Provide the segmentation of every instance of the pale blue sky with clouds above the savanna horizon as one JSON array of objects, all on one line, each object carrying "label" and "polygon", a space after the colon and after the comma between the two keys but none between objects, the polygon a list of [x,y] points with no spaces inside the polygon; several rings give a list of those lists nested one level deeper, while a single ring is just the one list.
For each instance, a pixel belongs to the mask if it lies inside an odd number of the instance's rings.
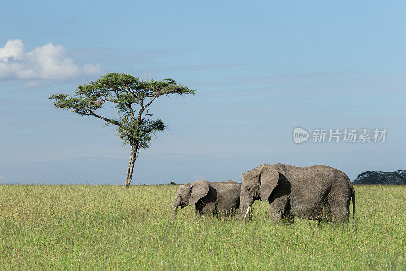
[{"label": "pale blue sky with clouds above the savanna horizon", "polygon": [[[108,72],[173,78],[132,184],[240,180],[261,164],[354,179],[406,169],[406,3],[20,1],[2,4],[0,183],[122,184],[129,147],[47,97]],[[384,143],[295,144],[305,128],[388,130]]]}]

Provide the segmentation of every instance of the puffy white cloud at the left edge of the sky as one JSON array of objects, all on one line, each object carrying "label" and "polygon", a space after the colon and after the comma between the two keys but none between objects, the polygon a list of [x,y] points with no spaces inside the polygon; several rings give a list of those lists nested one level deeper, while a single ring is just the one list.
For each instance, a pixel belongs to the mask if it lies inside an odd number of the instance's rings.
[{"label": "puffy white cloud at the left edge of the sky", "polygon": [[47,43],[25,52],[21,40],[9,40],[0,48],[0,79],[67,79],[99,73],[100,64],[75,65],[62,45]]}]

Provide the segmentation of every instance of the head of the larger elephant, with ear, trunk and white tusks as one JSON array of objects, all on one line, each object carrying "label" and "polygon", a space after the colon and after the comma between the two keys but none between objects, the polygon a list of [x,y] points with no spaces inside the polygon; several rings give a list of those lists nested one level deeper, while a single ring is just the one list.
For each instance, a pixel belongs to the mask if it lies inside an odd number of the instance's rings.
[{"label": "head of the larger elephant, with ear, trunk and white tusks", "polygon": [[244,218],[251,218],[250,210],[255,200],[269,199],[278,179],[279,172],[272,165],[262,165],[242,174],[240,210]]}]

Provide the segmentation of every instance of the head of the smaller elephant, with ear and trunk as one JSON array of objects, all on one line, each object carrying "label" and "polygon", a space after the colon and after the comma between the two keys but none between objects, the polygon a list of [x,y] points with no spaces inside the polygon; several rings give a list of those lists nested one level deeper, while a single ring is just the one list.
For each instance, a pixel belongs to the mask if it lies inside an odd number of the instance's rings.
[{"label": "head of the smaller elephant, with ear and trunk", "polygon": [[181,185],[172,205],[172,217],[176,218],[176,211],[179,206],[183,208],[196,204],[197,201],[207,195],[209,188],[209,183],[206,180],[196,180],[190,184]]}]

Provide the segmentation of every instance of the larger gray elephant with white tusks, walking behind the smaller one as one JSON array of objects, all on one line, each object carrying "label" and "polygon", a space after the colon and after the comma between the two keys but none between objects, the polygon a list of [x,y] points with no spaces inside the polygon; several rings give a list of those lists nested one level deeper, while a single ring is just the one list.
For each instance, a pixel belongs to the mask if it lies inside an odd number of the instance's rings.
[{"label": "larger gray elephant with white tusks, walking behind the smaller one", "polygon": [[[273,222],[292,223],[293,216],[348,225],[352,197],[355,226],[355,192],[346,174],[317,165],[295,167],[261,165],[242,174],[240,209],[246,219],[255,200],[268,200]],[[250,207],[250,209],[248,209]]]}]

